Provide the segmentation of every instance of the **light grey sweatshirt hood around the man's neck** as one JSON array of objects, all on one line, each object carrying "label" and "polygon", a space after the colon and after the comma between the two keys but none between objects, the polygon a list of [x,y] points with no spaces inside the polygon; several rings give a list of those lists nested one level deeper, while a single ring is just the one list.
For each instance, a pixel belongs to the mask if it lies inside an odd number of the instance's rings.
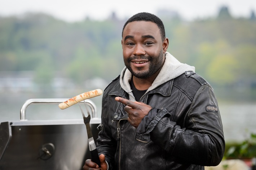
[{"label": "light grey sweatshirt hood around the man's neck", "polygon": [[[146,93],[160,86],[161,84],[171,79],[174,79],[179,75],[188,71],[195,72],[195,67],[181,63],[169,52],[165,52],[164,65],[161,68],[159,74],[155,78],[152,85],[147,89]],[[131,81],[131,78],[132,78],[132,73],[126,67],[124,67],[120,75],[120,85],[125,92],[129,93],[129,96],[130,96],[129,100],[135,101],[131,87],[130,87],[130,83],[129,83]]]}]

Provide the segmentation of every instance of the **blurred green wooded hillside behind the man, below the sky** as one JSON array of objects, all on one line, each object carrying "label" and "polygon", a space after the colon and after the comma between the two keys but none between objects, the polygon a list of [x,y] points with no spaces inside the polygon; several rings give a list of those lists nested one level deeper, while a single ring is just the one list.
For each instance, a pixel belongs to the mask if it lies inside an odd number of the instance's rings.
[{"label": "blurred green wooded hillside behind the man, below the sky", "polygon": [[[195,66],[212,86],[243,87],[253,98],[255,18],[233,18],[222,9],[216,18],[161,19],[173,56]],[[43,13],[0,17],[0,71],[32,70],[39,84],[50,84],[57,73],[77,83],[93,77],[109,82],[124,67],[124,23],[116,18],[69,23]]]}]

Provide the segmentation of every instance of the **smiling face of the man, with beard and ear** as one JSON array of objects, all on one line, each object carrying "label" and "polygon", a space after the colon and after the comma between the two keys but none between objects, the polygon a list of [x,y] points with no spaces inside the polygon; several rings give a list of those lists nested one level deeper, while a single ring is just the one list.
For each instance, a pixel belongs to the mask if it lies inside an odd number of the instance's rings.
[{"label": "smiling face of the man, with beard and ear", "polygon": [[125,66],[132,75],[141,79],[158,74],[167,49],[163,47],[158,26],[146,21],[134,21],[126,25],[122,48]]}]

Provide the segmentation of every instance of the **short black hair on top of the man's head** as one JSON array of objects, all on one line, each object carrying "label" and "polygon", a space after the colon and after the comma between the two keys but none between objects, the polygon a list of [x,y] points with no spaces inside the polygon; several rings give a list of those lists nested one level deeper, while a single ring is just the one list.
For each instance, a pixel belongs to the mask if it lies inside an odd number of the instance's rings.
[{"label": "short black hair on top of the man's head", "polygon": [[122,31],[122,37],[123,37],[123,32],[124,32],[125,26],[128,23],[133,22],[133,21],[150,21],[150,22],[155,23],[158,26],[159,30],[160,30],[161,39],[162,39],[162,41],[164,41],[164,39],[165,39],[165,30],[164,30],[164,24],[163,24],[162,20],[160,18],[158,18],[156,15],[146,13],[146,12],[135,14],[125,22],[124,27],[123,27],[123,31]]}]

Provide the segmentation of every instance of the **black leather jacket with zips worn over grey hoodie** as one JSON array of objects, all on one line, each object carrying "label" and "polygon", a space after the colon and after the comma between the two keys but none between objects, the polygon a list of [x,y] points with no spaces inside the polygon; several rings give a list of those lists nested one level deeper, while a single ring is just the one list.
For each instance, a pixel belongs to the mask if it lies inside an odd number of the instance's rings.
[{"label": "black leather jacket with zips worn over grey hoodie", "polygon": [[119,77],[102,98],[102,130],[98,152],[113,170],[203,170],[222,160],[225,141],[212,87],[199,75],[186,72],[146,93],[141,102],[153,109],[138,128],[127,121],[129,99]]}]

